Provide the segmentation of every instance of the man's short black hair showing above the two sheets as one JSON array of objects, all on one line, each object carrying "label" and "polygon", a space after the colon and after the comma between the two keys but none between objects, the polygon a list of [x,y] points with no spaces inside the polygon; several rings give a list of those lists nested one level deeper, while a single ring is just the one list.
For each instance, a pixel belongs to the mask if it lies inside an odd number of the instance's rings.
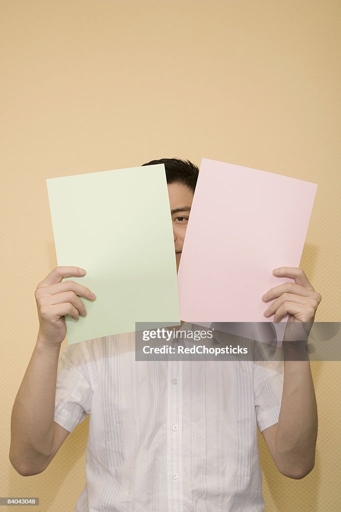
[{"label": "man's short black hair showing above the two sheets", "polygon": [[191,190],[195,190],[198,179],[199,168],[189,160],[181,158],[160,158],[160,160],[151,160],[142,165],[154,165],[157,163],[165,164],[167,183],[183,183]]}]

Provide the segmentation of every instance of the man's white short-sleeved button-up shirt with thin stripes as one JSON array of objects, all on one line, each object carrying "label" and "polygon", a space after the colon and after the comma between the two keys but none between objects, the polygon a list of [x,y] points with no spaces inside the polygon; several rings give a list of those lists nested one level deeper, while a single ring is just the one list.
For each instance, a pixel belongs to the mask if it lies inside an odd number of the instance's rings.
[{"label": "man's white short-sleeved button-up shirt with thin stripes", "polygon": [[262,512],[257,425],[278,422],[283,368],[136,361],[134,332],[67,346],[54,419],[72,432],[90,415],[75,512]]}]

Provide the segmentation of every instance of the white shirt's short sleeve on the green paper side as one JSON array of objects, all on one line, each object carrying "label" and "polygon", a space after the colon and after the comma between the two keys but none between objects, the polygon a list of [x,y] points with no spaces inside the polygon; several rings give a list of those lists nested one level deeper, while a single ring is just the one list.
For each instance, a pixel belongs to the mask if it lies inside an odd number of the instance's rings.
[{"label": "white shirt's short sleeve on the green paper side", "polygon": [[72,432],[90,414],[93,387],[84,343],[69,345],[58,361],[54,420]]}]

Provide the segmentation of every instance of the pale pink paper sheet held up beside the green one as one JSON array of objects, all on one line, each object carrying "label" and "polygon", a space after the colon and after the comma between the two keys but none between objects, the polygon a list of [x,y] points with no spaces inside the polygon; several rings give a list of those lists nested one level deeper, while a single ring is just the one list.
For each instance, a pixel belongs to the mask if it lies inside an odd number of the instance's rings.
[{"label": "pale pink paper sheet held up beside the green one", "polygon": [[[263,312],[273,301],[261,297],[294,281],[272,270],[300,266],[316,189],[203,158],[178,270],[180,318],[199,325],[272,322]],[[274,324],[279,337],[286,322]]]}]

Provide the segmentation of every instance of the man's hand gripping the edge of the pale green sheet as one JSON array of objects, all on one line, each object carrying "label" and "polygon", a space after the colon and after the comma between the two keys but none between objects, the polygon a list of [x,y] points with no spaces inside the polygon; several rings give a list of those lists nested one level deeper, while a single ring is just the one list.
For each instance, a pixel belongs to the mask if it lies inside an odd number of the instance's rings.
[{"label": "man's hand gripping the edge of the pale green sheet", "polygon": [[60,345],[66,336],[63,315],[75,320],[86,316],[79,296],[93,301],[96,295],[75,281],[62,281],[71,276],[83,276],[86,271],[79,267],[56,267],[43,279],[34,293],[39,317],[38,338],[49,345]]}]

